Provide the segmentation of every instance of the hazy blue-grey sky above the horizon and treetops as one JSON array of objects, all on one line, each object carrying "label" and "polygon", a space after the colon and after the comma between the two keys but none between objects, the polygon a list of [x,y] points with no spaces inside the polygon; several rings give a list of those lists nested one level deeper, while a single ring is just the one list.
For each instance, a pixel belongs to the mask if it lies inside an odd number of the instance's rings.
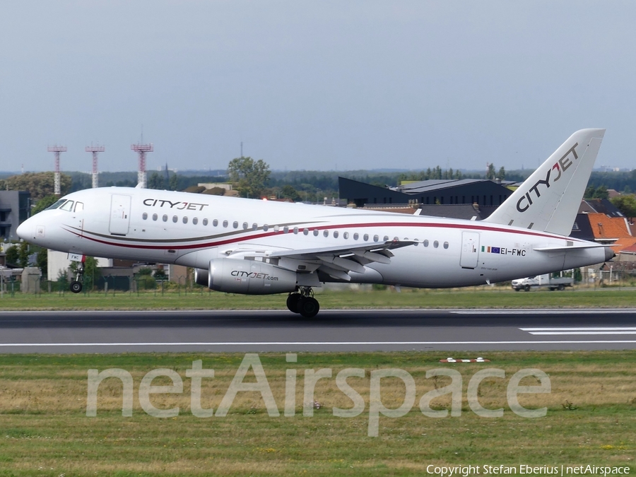
[{"label": "hazy blue-grey sky above the horizon and treetops", "polygon": [[636,2],[0,3],[0,170],[636,167]]}]

